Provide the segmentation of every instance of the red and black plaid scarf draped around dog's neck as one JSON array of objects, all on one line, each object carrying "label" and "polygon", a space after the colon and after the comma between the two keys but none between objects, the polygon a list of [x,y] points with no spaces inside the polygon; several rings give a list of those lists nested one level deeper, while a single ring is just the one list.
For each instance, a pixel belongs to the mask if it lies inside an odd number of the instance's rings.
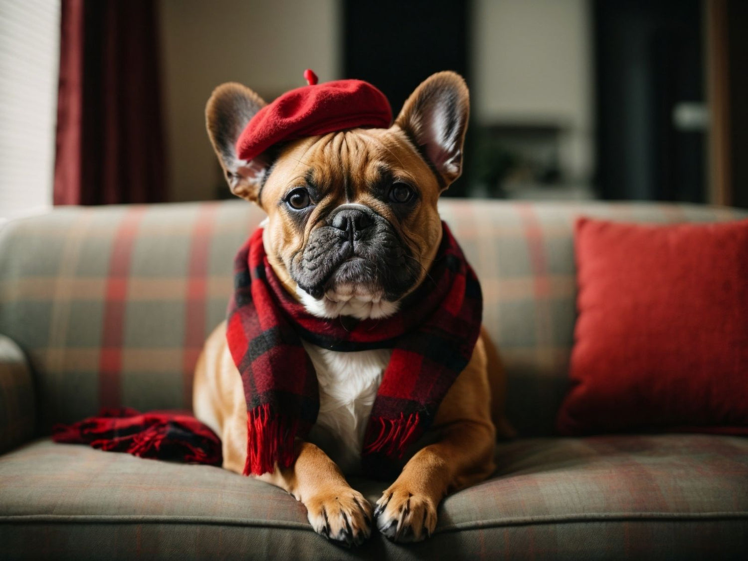
[{"label": "red and black plaid scarf draped around dog's neck", "polygon": [[272,472],[276,462],[291,465],[295,438],[304,438],[316,421],[317,378],[301,340],[343,352],[393,349],[364,436],[366,473],[390,473],[423,435],[470,361],[482,316],[475,273],[447,224],[442,228],[429,275],[399,312],[353,325],[308,313],[276,278],[263,230],[248,239],[236,256],[227,328],[247,399],[245,475]]}]

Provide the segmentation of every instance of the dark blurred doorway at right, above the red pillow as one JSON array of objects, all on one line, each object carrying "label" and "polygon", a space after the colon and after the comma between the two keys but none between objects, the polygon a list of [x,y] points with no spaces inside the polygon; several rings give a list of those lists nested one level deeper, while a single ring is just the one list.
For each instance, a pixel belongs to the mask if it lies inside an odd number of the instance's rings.
[{"label": "dark blurred doorway at right, above the red pillow", "polygon": [[702,2],[595,0],[598,193],[704,202]]}]

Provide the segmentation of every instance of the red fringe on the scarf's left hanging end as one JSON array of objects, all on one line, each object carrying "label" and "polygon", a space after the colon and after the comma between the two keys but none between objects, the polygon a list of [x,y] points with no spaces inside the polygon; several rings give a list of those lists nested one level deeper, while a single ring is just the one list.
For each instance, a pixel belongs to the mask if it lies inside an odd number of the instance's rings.
[{"label": "red fringe on the scarf's left hanging end", "polygon": [[288,468],[295,460],[293,444],[298,419],[272,411],[269,403],[247,412],[247,462],[244,475],[273,473],[275,464]]}]

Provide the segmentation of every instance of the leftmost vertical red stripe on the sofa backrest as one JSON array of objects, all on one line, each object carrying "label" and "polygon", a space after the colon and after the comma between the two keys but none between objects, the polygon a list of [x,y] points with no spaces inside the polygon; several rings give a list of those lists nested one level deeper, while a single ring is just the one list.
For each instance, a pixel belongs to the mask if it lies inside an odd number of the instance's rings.
[{"label": "leftmost vertical red stripe on the sofa backrest", "polygon": [[122,344],[125,331],[127,283],[129,281],[132,246],[138,224],[146,206],[132,206],[122,218],[109,257],[109,274],[104,296],[101,352],[99,353],[99,406],[122,405],[120,374],[122,371]]}]

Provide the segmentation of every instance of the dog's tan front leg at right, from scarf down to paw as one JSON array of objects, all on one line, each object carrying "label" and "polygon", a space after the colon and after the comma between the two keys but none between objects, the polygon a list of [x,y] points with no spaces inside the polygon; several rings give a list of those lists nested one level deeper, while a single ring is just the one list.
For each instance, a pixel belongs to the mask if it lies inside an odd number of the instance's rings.
[{"label": "dog's tan front leg at right, from scarf down to paw", "polygon": [[482,481],[494,466],[496,431],[491,423],[485,351],[476,345],[435,418],[439,440],[419,450],[377,501],[381,533],[396,542],[417,542],[436,527],[436,509],[450,491]]}]

